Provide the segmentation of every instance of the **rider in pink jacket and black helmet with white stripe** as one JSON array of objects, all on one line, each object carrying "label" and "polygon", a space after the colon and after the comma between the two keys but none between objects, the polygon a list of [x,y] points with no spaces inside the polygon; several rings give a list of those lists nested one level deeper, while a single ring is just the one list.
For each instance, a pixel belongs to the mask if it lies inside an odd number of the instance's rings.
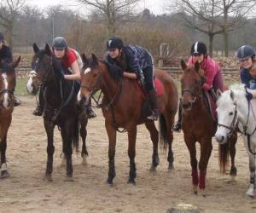
[{"label": "rider in pink jacket and black helmet with white stripe", "polygon": [[[224,83],[222,71],[215,60],[207,55],[207,46],[202,42],[195,42],[191,46],[191,56],[189,58],[188,65],[191,66],[198,61],[201,64],[201,69],[205,74],[205,83],[203,84],[203,89],[212,95],[213,101],[217,100],[216,91],[220,89],[223,91]],[[173,125],[174,131],[181,130],[181,119],[182,119],[182,107],[179,104],[178,108],[178,119],[177,123]]]}]

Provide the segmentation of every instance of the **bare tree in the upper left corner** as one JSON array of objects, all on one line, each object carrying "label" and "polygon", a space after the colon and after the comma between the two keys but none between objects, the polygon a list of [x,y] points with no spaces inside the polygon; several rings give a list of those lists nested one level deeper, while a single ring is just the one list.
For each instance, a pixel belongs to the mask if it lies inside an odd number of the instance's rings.
[{"label": "bare tree in the upper left corner", "polygon": [[14,24],[16,15],[25,5],[26,0],[1,0],[0,3],[0,25],[5,28],[9,46],[13,46]]}]

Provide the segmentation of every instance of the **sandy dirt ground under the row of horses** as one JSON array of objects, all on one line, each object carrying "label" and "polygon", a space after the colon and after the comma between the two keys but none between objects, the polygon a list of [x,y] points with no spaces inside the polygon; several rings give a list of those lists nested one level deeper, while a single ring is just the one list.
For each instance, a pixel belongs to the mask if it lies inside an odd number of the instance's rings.
[{"label": "sandy dirt ground under the row of horses", "polygon": [[167,170],[166,155],[160,152],[157,172],[150,173],[152,143],[143,125],[137,133],[137,185],[127,184],[129,158],[127,136],[119,134],[113,187],[108,176],[108,137],[102,112],[88,126],[88,164],[73,154],[74,181],[67,182],[61,167],[61,137],[55,130],[55,158],[52,182],[44,181],[46,135],[43,119],[32,115],[35,99],[21,97],[15,108],[8,136],[10,177],[0,180],[0,212],[166,212],[175,204],[195,204],[201,212],[256,212],[256,200],[245,196],[249,171],[242,139],[237,143],[235,179],[218,172],[218,146],[213,142],[207,170],[207,197],[192,193],[189,152],[183,133],[175,134],[175,171]]}]

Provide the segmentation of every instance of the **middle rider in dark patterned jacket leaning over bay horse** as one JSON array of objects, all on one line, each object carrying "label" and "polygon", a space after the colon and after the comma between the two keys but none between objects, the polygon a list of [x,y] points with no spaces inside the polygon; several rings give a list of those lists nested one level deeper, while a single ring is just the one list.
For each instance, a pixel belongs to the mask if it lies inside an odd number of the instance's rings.
[{"label": "middle rider in dark patterned jacket leaning over bay horse", "polygon": [[[148,50],[137,45],[124,46],[120,37],[111,37],[107,42],[108,55],[106,60],[122,68],[125,78],[140,80],[144,77],[152,114],[147,118],[157,120],[157,96],[154,89],[153,59]],[[142,76],[143,75],[143,76]]]}]

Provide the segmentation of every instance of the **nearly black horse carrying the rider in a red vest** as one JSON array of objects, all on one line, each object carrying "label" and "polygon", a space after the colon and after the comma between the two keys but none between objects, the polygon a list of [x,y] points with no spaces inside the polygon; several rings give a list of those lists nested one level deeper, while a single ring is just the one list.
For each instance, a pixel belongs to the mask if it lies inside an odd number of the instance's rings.
[{"label": "nearly black horse carrying the rider in a red vest", "polygon": [[46,44],[44,49],[39,49],[34,43],[33,50],[32,72],[26,89],[32,95],[36,95],[40,87],[43,89],[44,129],[48,141],[45,178],[52,181],[54,129],[57,125],[61,131],[62,152],[67,163],[66,181],[73,181],[72,142],[78,146],[80,124],[80,136],[83,141],[81,156],[85,158],[88,155],[85,145],[87,116],[76,100],[75,82],[63,78],[60,61],[52,54],[49,45]]}]

